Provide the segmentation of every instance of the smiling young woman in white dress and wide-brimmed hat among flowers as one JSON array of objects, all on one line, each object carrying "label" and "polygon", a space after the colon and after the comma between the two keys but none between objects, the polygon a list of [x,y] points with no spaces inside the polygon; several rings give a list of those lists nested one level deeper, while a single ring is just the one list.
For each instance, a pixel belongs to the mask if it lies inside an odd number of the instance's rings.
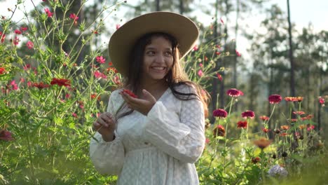
[{"label": "smiling young woman in white dress and wide-brimmed hat among flowers", "polygon": [[90,158],[100,173],[118,174],[118,184],[199,184],[207,94],[179,64],[197,39],[189,18],[168,12],[139,16],[111,36],[125,83],[93,123]]}]

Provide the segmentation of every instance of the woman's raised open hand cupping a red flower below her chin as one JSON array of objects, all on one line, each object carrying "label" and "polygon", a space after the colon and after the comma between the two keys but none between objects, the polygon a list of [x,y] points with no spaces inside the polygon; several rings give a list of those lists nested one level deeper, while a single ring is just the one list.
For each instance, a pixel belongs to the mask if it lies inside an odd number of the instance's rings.
[{"label": "woman's raised open hand cupping a red flower below her chin", "polygon": [[154,104],[156,104],[156,98],[151,95],[146,90],[142,90],[142,93],[144,93],[144,99],[138,99],[135,97],[131,97],[128,95],[128,93],[121,92],[123,99],[125,100],[126,104],[130,109],[134,109],[136,111],[139,111],[141,114],[144,114],[145,116],[149,113],[151,108]]}]

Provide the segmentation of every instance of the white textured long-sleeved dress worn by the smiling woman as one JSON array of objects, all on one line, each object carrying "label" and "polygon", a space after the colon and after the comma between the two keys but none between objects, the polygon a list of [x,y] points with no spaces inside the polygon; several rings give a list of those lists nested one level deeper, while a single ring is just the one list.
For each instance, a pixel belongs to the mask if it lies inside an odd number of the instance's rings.
[{"label": "white textured long-sleeved dress worn by the smiling woman", "polygon": [[[177,90],[195,93],[180,85]],[[123,98],[115,90],[107,111],[114,114]],[[200,100],[179,100],[170,88],[147,116],[133,111],[118,120],[116,138],[104,142],[97,132],[90,158],[98,172],[118,174],[120,185],[199,184],[194,163],[205,146],[205,118]]]}]

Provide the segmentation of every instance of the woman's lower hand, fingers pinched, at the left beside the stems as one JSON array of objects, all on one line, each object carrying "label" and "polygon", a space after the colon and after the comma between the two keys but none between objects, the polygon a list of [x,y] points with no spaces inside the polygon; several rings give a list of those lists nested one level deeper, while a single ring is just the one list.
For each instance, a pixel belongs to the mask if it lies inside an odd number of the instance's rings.
[{"label": "woman's lower hand, fingers pinched, at the left beside the stems", "polygon": [[102,135],[102,139],[111,142],[114,139],[116,123],[109,112],[100,114],[97,121],[93,123],[93,128]]}]

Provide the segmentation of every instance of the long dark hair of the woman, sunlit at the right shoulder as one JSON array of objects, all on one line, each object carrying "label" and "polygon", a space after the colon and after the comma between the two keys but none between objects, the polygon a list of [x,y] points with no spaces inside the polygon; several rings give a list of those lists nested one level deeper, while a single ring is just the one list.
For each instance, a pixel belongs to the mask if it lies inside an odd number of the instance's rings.
[{"label": "long dark hair of the woman, sunlit at the right shoulder", "polygon": [[[128,67],[128,75],[125,76],[125,81],[123,83],[123,88],[130,89],[133,93],[137,93],[140,91],[140,82],[142,79],[142,65],[144,61],[144,50],[146,46],[151,44],[151,39],[153,37],[163,36],[164,39],[167,39],[172,43],[172,55],[173,55],[173,64],[172,69],[168,71],[168,74],[165,76],[165,81],[168,83],[168,87],[172,91],[173,95],[177,97],[179,100],[191,100],[191,99],[198,99],[201,102],[203,102],[203,107],[205,111],[205,116],[207,116],[207,102],[209,100],[210,95],[207,93],[206,90],[203,90],[203,88],[198,85],[197,83],[193,83],[189,80],[186,73],[182,70],[182,67],[179,64],[179,43],[177,42],[177,39],[175,37],[171,36],[170,34],[166,34],[163,32],[155,32],[155,33],[149,33],[145,34],[144,36],[140,37],[140,39],[137,40],[135,43],[135,46],[132,49],[132,52],[130,53],[130,63]],[[196,88],[196,94],[195,93],[182,93],[177,90],[177,87],[179,85],[189,85],[193,88]],[[124,111],[121,113],[121,111],[126,108],[123,107],[120,112],[120,114],[116,115],[116,120],[118,118],[122,118],[123,116],[127,116],[132,113],[133,110],[130,111]]]}]

